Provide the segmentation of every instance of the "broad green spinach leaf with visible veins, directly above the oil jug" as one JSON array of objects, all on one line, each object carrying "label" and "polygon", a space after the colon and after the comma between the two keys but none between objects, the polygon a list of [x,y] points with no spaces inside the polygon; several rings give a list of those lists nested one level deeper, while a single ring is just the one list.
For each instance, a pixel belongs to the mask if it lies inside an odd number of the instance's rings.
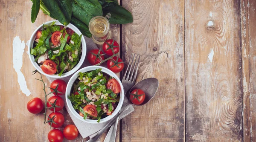
[{"label": "broad green spinach leaf with visible veins, directly above the oil jug", "polygon": [[102,16],[102,6],[98,0],[72,0],[72,15],[89,25],[95,16]]}]

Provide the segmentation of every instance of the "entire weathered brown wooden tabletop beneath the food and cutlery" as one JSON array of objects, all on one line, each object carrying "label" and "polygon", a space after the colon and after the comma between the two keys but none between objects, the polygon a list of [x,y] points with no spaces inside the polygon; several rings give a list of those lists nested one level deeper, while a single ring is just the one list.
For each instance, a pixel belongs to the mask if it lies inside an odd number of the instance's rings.
[{"label": "entire weathered brown wooden tabletop beneath the food and cutlery", "polygon": [[[126,62],[141,63],[137,81],[155,77],[159,90],[148,104],[120,121],[116,142],[256,142],[256,1],[121,0],[134,22],[112,25]],[[21,72],[31,95],[17,83],[15,36],[26,43],[42,23],[30,21],[30,0],[0,1],[0,141],[44,142],[49,125],[26,103],[44,98],[42,84],[23,53]],[[44,77],[47,81],[47,78]],[[49,85],[49,82],[47,82]],[[49,90],[47,90],[49,92]],[[72,124],[66,110],[67,124]],[[106,134],[105,134],[106,135]],[[104,141],[104,136],[99,142]],[[79,136],[74,142],[85,142]]]}]

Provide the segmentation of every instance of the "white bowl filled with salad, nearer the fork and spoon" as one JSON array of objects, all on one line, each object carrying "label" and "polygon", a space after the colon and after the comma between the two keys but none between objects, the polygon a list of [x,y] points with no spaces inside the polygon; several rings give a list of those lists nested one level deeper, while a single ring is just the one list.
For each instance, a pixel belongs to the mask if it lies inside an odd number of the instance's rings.
[{"label": "white bowl filled with salad, nearer the fork and spoon", "polygon": [[124,95],[119,78],[105,67],[89,66],[76,72],[67,84],[68,108],[79,119],[99,123],[113,118]]}]

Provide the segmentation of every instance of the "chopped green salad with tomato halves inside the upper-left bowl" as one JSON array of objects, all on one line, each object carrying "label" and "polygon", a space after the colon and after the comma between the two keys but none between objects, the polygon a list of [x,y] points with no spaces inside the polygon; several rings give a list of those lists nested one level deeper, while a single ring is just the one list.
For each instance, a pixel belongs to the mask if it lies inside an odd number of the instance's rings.
[{"label": "chopped green salad with tomato halves inside the upper-left bowl", "polygon": [[81,36],[66,26],[44,25],[37,31],[30,54],[47,74],[58,74],[72,70],[81,58]]}]

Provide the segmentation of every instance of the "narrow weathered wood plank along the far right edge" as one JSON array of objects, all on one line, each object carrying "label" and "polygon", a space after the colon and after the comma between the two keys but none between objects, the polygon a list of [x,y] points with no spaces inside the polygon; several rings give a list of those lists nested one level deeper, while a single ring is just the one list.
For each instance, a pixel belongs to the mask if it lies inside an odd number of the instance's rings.
[{"label": "narrow weathered wood plank along the far right edge", "polygon": [[241,0],[244,142],[256,141],[256,1]]}]

